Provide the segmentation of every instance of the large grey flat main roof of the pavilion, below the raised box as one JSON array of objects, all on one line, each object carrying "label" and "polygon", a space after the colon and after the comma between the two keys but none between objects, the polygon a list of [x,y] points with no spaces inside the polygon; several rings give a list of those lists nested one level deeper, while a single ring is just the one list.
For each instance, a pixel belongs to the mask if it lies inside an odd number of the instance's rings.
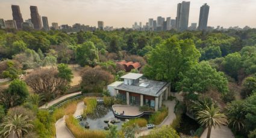
[{"label": "large grey flat main roof of the pavilion, below the raised box", "polygon": [[135,83],[133,85],[125,85],[125,83],[122,83],[114,89],[158,97],[165,90],[164,87],[168,84],[169,83],[167,82],[140,79],[139,83]]}]

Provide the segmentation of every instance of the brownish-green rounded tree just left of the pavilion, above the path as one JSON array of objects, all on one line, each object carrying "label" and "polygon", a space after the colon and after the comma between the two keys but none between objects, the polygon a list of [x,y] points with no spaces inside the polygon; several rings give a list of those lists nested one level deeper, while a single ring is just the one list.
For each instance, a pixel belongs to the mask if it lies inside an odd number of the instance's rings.
[{"label": "brownish-green rounded tree just left of the pavilion, above the path", "polygon": [[87,67],[82,77],[83,92],[102,92],[108,83],[113,81],[114,77],[101,67]]}]

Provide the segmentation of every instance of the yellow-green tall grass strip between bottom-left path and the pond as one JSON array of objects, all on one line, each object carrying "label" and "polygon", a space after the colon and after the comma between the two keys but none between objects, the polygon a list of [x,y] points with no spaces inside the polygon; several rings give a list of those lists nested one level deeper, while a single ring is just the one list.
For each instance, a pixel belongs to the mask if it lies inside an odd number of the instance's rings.
[{"label": "yellow-green tall grass strip between bottom-left path and the pond", "polygon": [[106,132],[101,130],[86,130],[78,124],[78,121],[73,118],[72,115],[69,115],[65,118],[67,128],[71,131],[73,136],[76,138],[101,138],[106,137]]}]

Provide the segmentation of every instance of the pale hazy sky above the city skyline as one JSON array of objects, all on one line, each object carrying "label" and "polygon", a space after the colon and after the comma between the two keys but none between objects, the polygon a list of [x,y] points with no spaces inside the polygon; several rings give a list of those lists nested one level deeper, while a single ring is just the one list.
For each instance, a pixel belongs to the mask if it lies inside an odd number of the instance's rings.
[{"label": "pale hazy sky above the city skyline", "polygon": [[[0,0],[0,18],[12,19],[11,4],[19,5],[23,20],[30,18],[30,5],[36,5],[40,16],[52,22],[96,26],[98,20],[105,26],[131,27],[134,22],[143,25],[157,16],[175,19],[180,0]],[[249,25],[256,28],[256,0],[191,0],[190,23],[198,23],[201,5],[210,5],[208,26]]]}]

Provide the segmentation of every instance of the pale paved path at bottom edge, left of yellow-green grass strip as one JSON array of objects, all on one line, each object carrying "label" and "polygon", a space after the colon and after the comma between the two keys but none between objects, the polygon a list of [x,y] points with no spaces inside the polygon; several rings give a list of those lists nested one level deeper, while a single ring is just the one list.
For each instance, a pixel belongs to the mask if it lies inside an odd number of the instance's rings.
[{"label": "pale paved path at bottom edge, left of yellow-green grass strip", "polygon": [[57,138],[73,138],[73,135],[67,129],[64,117],[61,119],[58,119],[55,126],[56,126],[56,137]]}]

